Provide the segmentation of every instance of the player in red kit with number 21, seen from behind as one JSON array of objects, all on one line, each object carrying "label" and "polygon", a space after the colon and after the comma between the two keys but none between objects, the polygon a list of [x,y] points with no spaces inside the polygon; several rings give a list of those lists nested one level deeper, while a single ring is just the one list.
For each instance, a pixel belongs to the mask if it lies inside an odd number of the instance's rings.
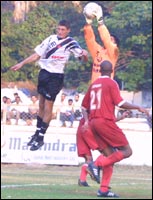
[{"label": "player in red kit with number 21, seen from behind", "polygon": [[[104,155],[101,154],[94,162],[90,162],[88,170],[97,182],[100,178],[99,167],[103,170],[98,197],[118,197],[109,190],[113,164],[131,156],[132,149],[123,131],[115,122],[115,106],[136,109],[146,115],[149,113],[143,107],[128,103],[121,97],[117,82],[110,78],[113,70],[110,61],[104,60],[100,67],[102,76],[90,85],[82,101],[82,112],[85,119],[84,129],[91,128]],[[114,148],[115,151],[109,154],[110,148]]]}]

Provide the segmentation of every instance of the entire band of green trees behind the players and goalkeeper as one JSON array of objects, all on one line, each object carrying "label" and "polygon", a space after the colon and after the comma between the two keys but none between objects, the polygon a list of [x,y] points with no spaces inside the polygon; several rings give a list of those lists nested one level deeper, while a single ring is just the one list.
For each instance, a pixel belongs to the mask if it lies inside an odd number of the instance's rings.
[{"label": "entire band of green trees behind the players and goalkeeper", "polygon": [[[83,26],[85,19],[82,8],[88,1],[74,2],[45,1],[37,2],[26,20],[13,22],[13,12],[1,15],[1,78],[5,81],[32,80],[37,82],[39,68],[32,63],[18,72],[9,67],[33,53],[33,49],[50,34],[55,33],[59,20],[71,22],[71,36],[87,49]],[[152,87],[152,2],[116,1],[98,2],[103,7],[105,24],[120,38],[120,58],[117,63],[116,80],[124,82],[125,89],[137,91],[151,90]],[[10,3],[11,4],[11,3]],[[1,4],[4,5],[4,4]],[[94,22],[96,39],[101,44],[97,23]],[[92,60],[80,63],[73,57],[65,70],[65,87],[86,91],[90,83]]]}]

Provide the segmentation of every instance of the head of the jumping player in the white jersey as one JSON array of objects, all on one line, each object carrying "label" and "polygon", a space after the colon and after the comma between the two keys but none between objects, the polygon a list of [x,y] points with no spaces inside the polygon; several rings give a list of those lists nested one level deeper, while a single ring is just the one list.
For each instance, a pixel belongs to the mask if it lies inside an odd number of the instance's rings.
[{"label": "head of the jumping player in the white jersey", "polygon": [[70,33],[70,23],[67,20],[61,20],[57,26],[57,36],[59,39],[66,38]]}]

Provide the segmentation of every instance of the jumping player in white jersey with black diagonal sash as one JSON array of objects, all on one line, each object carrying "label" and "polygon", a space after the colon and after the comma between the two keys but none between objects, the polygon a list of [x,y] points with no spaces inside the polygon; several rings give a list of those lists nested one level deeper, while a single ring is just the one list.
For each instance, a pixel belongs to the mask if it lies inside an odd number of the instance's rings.
[{"label": "jumping player in white jersey with black diagonal sash", "polygon": [[79,60],[87,61],[87,51],[69,36],[70,24],[61,20],[57,27],[57,34],[50,35],[34,49],[35,53],[22,62],[11,67],[19,70],[25,64],[38,61],[41,68],[38,76],[39,113],[37,128],[28,145],[35,151],[44,144],[44,135],[52,119],[53,104],[57,94],[63,87],[64,69],[73,54]]}]

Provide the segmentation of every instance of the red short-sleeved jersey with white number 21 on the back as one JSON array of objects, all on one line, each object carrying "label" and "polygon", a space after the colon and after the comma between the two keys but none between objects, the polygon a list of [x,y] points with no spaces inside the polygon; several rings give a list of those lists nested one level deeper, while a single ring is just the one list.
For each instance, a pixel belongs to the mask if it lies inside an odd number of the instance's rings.
[{"label": "red short-sleeved jersey with white number 21 on the back", "polygon": [[90,111],[89,119],[115,120],[115,106],[121,106],[124,102],[117,82],[108,76],[100,76],[90,85],[82,107]]}]

